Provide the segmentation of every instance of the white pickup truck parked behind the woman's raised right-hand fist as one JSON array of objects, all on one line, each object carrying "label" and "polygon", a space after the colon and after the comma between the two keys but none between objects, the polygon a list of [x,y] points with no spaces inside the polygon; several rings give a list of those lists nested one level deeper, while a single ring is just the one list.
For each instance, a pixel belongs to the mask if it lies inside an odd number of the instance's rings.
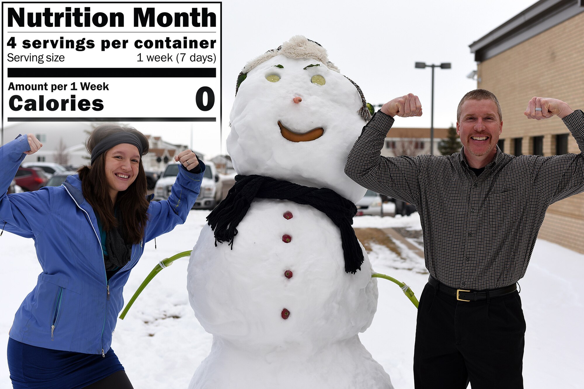
[{"label": "white pickup truck parked behind the woman's raised right-hand fist", "polygon": [[[213,162],[205,161],[205,173],[201,182],[201,192],[194,202],[193,209],[214,209],[221,201],[223,193],[223,183],[219,179],[217,169]],[[175,183],[176,175],[179,173],[179,165],[176,162],[169,162],[164,172],[154,186],[154,200],[166,200],[171,194],[172,184]]]}]

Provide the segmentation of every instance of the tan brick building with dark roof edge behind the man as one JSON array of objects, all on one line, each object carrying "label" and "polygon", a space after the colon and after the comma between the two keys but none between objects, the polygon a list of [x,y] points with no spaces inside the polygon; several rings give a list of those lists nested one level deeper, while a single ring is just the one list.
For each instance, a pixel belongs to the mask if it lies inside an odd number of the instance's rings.
[{"label": "tan brick building with dark roof edge behind the man", "polygon": [[[478,88],[499,99],[500,146],[514,154],[578,153],[561,120],[523,115],[533,96],[584,109],[584,0],[541,0],[470,45]],[[550,206],[539,237],[584,253],[584,193]]]}]

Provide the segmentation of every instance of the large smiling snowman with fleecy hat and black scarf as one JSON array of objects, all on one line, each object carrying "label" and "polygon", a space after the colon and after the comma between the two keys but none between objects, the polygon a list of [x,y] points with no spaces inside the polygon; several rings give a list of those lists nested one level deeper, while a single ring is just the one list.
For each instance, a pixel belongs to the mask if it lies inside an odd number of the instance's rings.
[{"label": "large smiling snowman with fleecy hat and black scarf", "polygon": [[370,118],[359,86],[295,36],[248,62],[236,93],[227,148],[241,176],[189,262],[190,304],[213,334],[190,388],[392,388],[359,339],[378,296],[350,227],[365,189],[343,172]]}]

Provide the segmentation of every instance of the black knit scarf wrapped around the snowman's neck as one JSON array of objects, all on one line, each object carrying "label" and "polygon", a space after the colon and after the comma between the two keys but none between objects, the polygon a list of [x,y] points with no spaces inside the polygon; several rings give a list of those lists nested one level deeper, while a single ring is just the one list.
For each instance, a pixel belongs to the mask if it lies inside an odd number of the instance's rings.
[{"label": "black knit scarf wrapped around the snowman's neck", "polygon": [[308,204],[326,214],[339,227],[345,271],[354,274],[361,270],[363,251],[351,227],[353,216],[357,213],[355,204],[331,189],[303,186],[266,176],[235,176],[235,185],[227,197],[207,216],[207,223],[215,234],[215,246],[217,242],[231,242],[233,249],[237,225],[245,217],[255,197]]}]

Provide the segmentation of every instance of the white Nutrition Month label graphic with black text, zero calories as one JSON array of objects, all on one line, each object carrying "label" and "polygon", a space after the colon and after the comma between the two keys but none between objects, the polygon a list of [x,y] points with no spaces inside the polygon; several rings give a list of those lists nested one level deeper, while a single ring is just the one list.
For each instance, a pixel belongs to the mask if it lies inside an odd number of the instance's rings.
[{"label": "white Nutrition Month label graphic with black text, zero calories", "polygon": [[2,123],[220,114],[221,2],[2,3]]}]

